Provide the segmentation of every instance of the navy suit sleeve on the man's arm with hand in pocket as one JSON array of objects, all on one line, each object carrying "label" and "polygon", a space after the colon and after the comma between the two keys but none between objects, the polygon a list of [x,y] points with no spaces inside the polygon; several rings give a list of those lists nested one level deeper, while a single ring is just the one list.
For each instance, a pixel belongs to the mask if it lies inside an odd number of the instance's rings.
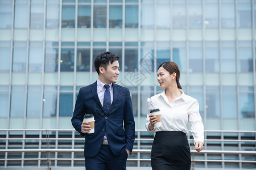
[{"label": "navy suit sleeve on the man's arm with hand in pocket", "polygon": [[126,148],[131,152],[133,150],[135,139],[135,122],[133,117],[133,107],[131,104],[131,96],[129,90],[127,90],[125,98],[125,111],[123,120],[125,128],[125,140]]}]

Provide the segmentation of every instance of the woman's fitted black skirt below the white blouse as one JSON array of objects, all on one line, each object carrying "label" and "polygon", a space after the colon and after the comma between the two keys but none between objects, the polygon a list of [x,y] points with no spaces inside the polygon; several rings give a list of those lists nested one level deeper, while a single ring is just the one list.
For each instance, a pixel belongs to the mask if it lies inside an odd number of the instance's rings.
[{"label": "woman's fitted black skirt below the white blouse", "polygon": [[189,170],[191,152],[187,135],[182,131],[156,132],[151,151],[153,170]]}]

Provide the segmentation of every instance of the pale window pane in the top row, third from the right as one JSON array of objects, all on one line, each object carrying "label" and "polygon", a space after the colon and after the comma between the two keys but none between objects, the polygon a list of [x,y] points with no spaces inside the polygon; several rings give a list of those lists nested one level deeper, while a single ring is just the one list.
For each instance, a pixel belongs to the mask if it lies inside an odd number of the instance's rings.
[{"label": "pale window pane in the top row, third from the right", "polygon": [[218,4],[205,4],[205,28],[218,28]]}]

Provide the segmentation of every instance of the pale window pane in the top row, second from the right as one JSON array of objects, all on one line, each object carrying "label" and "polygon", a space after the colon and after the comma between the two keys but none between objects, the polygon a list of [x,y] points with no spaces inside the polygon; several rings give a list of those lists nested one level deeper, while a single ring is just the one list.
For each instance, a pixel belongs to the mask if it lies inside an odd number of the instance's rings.
[{"label": "pale window pane in the top row, second from the right", "polygon": [[221,4],[221,27],[235,27],[235,6],[234,3]]}]

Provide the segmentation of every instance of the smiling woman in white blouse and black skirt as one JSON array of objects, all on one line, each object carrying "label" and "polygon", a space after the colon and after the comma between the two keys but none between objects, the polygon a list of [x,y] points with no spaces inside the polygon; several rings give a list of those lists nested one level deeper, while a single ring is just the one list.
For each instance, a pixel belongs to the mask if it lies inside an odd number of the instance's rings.
[{"label": "smiling woman in white blouse and black skirt", "polygon": [[[195,150],[203,150],[204,125],[199,114],[196,99],[184,94],[180,83],[180,70],[175,62],[164,62],[158,67],[158,82],[164,91],[152,96],[148,105],[146,129],[156,133],[151,151],[153,170],[181,169],[191,167],[191,153],[188,144],[188,123],[195,141]],[[150,113],[152,109],[160,109],[161,123]]]}]

